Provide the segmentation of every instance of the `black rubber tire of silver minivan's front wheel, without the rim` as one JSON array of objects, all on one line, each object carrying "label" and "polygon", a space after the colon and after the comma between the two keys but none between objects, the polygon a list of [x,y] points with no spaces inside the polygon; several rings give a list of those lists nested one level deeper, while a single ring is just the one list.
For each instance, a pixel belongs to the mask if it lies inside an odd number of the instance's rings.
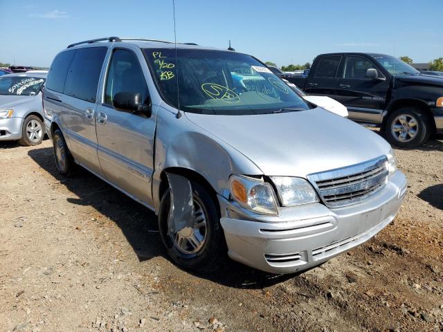
[{"label": "black rubber tire of silver minivan's front wheel, without the rim", "polygon": [[192,198],[201,206],[206,215],[206,238],[201,249],[194,254],[186,254],[174,244],[168,235],[168,216],[170,210],[170,189],[168,189],[160,203],[159,230],[161,240],[168,255],[175,264],[188,270],[211,272],[226,257],[226,242],[220,225],[219,207],[202,185],[191,181]]}]

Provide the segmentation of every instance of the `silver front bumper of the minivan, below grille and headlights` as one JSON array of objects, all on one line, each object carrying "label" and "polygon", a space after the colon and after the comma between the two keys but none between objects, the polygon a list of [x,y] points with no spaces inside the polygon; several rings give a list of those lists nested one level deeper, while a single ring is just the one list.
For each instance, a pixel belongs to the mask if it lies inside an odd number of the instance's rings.
[{"label": "silver front bumper of the minivan, below grille and headlights", "polygon": [[279,216],[244,214],[219,196],[221,226],[228,255],[269,273],[296,273],[368,241],[400,208],[406,177],[397,171],[377,195],[359,204],[330,210],[314,203],[282,208]]}]

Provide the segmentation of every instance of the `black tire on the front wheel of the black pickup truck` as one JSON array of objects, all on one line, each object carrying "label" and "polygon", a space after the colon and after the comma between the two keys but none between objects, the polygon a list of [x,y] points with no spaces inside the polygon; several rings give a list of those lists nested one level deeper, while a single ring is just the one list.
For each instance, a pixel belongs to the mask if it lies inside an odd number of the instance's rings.
[{"label": "black tire on the front wheel of the black pickup truck", "polygon": [[[414,127],[416,127],[416,129],[415,136],[413,138],[408,134],[408,131],[412,127],[404,127],[402,124],[400,124],[400,122],[398,122],[400,116],[405,116],[407,119],[415,119],[416,126]],[[406,139],[402,140],[399,136],[399,132],[394,131],[395,126],[401,126],[400,129],[405,131]],[[399,128],[397,127],[397,130],[398,129]],[[419,147],[420,145],[424,145],[429,136],[431,136],[432,124],[429,117],[420,109],[417,109],[416,107],[401,107],[390,114],[388,120],[386,121],[385,133],[386,139],[391,145],[408,148]]]}]

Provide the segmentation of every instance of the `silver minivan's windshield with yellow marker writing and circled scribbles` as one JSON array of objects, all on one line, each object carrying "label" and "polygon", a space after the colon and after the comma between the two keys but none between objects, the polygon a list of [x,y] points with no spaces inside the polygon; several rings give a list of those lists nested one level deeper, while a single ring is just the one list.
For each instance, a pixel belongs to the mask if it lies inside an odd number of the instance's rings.
[{"label": "silver minivan's windshield with yellow marker writing and circled scribbles", "polygon": [[145,48],[144,52],[163,99],[183,111],[244,115],[310,109],[250,55],[178,48],[177,63],[174,48]]}]

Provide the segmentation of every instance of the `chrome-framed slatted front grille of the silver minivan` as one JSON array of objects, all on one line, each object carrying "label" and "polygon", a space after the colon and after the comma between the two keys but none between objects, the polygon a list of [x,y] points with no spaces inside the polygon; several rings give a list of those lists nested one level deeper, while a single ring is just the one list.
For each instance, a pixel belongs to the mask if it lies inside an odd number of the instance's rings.
[{"label": "chrome-framed slatted front grille of the silver minivan", "polygon": [[388,178],[388,159],[381,156],[365,163],[310,174],[325,205],[339,208],[359,203],[381,190]]}]

